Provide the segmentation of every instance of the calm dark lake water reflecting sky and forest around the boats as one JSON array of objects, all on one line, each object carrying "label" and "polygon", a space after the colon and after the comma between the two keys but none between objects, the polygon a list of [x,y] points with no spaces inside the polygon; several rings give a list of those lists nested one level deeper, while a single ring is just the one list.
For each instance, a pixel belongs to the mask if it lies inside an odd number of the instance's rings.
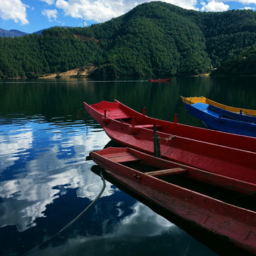
[{"label": "calm dark lake water reflecting sky and forest around the boats", "polygon": [[178,122],[203,127],[180,95],[256,110],[256,78],[0,80],[0,255],[216,255],[108,181],[97,203],[54,236],[102,188],[85,157],[110,139],[82,102],[117,99],[151,117],[172,121],[177,113]]}]

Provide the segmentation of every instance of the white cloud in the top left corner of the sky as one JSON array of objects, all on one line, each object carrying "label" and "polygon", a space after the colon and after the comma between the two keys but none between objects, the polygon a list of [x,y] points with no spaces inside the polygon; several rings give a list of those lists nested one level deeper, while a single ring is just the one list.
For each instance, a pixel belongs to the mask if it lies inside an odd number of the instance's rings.
[{"label": "white cloud in the top left corner of the sky", "polygon": [[21,23],[21,25],[28,24],[26,17],[26,6],[21,0],[0,0],[0,17],[4,21],[14,20],[15,23]]}]

